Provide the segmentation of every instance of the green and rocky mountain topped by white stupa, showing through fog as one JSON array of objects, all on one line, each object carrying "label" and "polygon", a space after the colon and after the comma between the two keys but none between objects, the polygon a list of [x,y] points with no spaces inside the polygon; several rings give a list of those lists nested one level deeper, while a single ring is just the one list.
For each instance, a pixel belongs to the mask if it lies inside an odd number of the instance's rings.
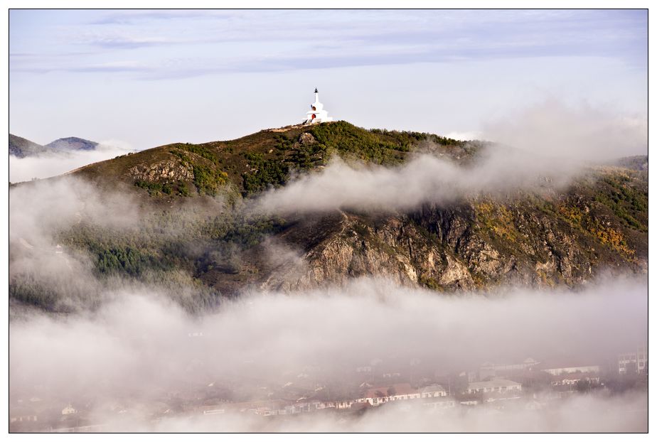
[{"label": "green and rocky mountain topped by white stupa, showing through fog", "polygon": [[[347,122],[282,129],[167,144],[73,171],[69,177],[102,192],[133,195],[141,221],[110,231],[82,215],[57,240],[88,254],[100,279],[197,287],[200,294],[181,301],[191,309],[250,289],[297,291],[359,276],[458,293],[508,284],[576,287],[606,272],[646,273],[647,157],[588,168],[564,189],[544,183],[406,211],[254,215],[245,210],[252,198],[295,174],[323,170],[331,158],[400,166],[425,152],[468,167],[488,146]],[[36,296],[18,277],[10,286],[18,301]],[[38,303],[57,310],[53,302]]]}]

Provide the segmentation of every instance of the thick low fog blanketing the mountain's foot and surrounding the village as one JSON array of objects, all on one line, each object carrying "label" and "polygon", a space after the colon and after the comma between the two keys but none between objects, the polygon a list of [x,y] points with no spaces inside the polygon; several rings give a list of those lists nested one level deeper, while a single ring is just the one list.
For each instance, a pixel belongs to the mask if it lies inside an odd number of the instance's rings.
[{"label": "thick low fog blanketing the mountain's foot and surrounding the village", "polygon": [[[619,352],[643,343],[646,303],[645,281],[636,280],[603,281],[577,293],[446,296],[360,279],[343,289],[247,293],[206,316],[189,316],[158,293],[114,293],[94,313],[13,320],[10,395],[92,404],[97,421],[129,431],[643,431],[643,394],[589,394],[545,413],[518,409],[500,419],[483,410],[437,418],[406,409],[390,419],[392,406],[360,417],[318,414],[269,424],[241,414],[153,421],[149,413],[164,411],[162,401],[188,389],[223,386],[239,392],[235,400],[262,399],[304,373],[319,387],[357,385],[356,368],[373,360],[392,363],[392,371],[415,360],[432,373],[527,357],[560,366],[614,364]],[[112,404],[132,412],[121,419],[107,411]]]}]

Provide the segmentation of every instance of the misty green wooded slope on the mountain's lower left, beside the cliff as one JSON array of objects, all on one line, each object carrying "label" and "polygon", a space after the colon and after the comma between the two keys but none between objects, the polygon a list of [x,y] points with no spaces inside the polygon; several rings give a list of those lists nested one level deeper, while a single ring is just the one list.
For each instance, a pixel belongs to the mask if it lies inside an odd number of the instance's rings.
[{"label": "misty green wooded slope on the mountain's lower left, beside the cliff", "polygon": [[[108,289],[147,284],[168,293],[189,311],[215,305],[221,294],[203,284],[210,269],[242,271],[245,249],[286,227],[279,217],[215,214],[202,209],[152,212],[134,227],[101,227],[80,222],[59,232],[76,275],[43,272],[14,274],[9,295],[14,301],[48,311],[94,308]],[[87,267],[88,264],[88,267]]]}]

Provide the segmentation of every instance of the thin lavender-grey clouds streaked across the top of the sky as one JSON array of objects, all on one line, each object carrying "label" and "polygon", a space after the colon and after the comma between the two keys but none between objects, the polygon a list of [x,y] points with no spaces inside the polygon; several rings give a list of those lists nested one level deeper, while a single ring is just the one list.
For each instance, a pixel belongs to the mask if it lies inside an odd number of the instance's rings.
[{"label": "thin lavender-grey clouds streaked across the top of the sky", "polygon": [[[196,63],[173,69],[169,66],[159,72],[160,77],[226,72],[220,66],[203,67],[202,60],[215,60],[221,65],[220,61],[233,53],[239,53],[240,58],[233,60],[228,71],[263,72],[298,69],[309,63],[316,68],[336,68],[541,55],[611,56],[641,63],[641,57],[636,55],[646,47],[646,16],[636,11],[547,11],[544,14],[440,10],[235,11],[233,14],[140,11],[105,15],[85,11],[78,14],[79,21],[73,26],[63,28],[45,23],[45,29],[37,31],[37,37],[54,32],[65,46],[105,50],[97,57],[106,62],[134,52],[135,60],[146,58],[146,71],[165,68],[166,58],[177,53],[198,55]],[[15,32],[20,35],[21,29]],[[274,41],[277,45],[262,48],[255,44],[262,41]],[[333,48],[326,47],[322,41],[332,42]],[[203,46],[203,50],[198,46]],[[318,46],[321,50],[316,50]],[[43,71],[38,60],[30,63],[15,57],[16,49],[16,44],[12,45],[12,70]],[[348,55],[338,56],[345,52]],[[275,63],[272,58],[276,58]],[[78,58],[77,63],[50,60],[52,70],[72,72],[87,71],[88,65],[100,64],[89,63],[85,57]],[[187,70],[188,75],[181,70]]]}]

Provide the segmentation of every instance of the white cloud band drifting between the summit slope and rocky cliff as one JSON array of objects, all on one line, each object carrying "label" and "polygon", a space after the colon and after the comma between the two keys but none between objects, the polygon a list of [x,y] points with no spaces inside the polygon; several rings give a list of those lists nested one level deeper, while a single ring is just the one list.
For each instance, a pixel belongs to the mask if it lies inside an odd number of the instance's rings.
[{"label": "white cloud band drifting between the summit slope and rocky cliff", "polygon": [[575,176],[577,164],[535,158],[521,151],[490,146],[470,166],[434,155],[417,156],[403,166],[359,166],[335,159],[319,173],[301,176],[270,190],[256,203],[264,212],[412,210],[422,203],[451,203],[481,193],[506,195],[516,190],[560,186]]}]

